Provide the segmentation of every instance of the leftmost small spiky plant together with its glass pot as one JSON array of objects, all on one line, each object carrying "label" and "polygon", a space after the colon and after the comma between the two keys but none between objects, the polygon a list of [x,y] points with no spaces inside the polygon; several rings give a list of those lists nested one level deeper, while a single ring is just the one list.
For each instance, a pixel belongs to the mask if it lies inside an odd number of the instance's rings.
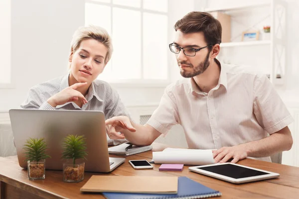
[{"label": "leftmost small spiky plant together with its glass pot", "polygon": [[47,144],[44,138],[29,138],[25,143],[23,149],[26,151],[29,180],[45,179],[45,159],[51,157],[46,155]]}]

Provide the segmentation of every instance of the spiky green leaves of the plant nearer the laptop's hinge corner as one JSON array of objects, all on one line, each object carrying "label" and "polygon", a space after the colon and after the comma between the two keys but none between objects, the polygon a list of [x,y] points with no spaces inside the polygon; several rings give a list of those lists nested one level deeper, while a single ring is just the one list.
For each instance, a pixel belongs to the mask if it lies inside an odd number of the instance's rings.
[{"label": "spiky green leaves of the plant nearer the laptop's hinge corner", "polygon": [[87,156],[86,143],[83,135],[68,135],[63,142],[63,159],[73,159],[73,165],[77,159],[85,159]]}]

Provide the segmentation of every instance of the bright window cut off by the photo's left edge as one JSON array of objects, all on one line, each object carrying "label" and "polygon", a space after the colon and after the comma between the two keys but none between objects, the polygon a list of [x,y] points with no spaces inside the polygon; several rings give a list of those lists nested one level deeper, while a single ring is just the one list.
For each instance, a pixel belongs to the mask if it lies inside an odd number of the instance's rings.
[{"label": "bright window cut off by the photo's left edge", "polygon": [[11,86],[10,0],[0,0],[0,88]]}]

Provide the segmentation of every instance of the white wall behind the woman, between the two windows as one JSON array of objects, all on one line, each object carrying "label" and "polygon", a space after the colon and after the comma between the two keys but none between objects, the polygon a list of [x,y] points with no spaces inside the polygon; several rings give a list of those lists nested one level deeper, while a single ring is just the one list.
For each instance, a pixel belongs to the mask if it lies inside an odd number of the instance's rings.
[{"label": "white wall behind the woman, between the two windows", "polygon": [[0,110],[18,107],[28,89],[67,72],[71,36],[84,25],[84,0],[11,0],[13,89],[0,89]]}]

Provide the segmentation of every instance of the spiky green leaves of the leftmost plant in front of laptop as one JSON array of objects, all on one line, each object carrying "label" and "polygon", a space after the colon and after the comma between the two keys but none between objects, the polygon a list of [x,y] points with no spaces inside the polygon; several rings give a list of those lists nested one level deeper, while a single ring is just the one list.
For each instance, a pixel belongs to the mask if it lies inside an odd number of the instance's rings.
[{"label": "spiky green leaves of the leftmost plant in front of laptop", "polygon": [[23,149],[26,150],[26,161],[39,162],[40,160],[51,158],[51,156],[46,155],[47,144],[44,141],[44,138],[29,138],[25,143]]}]

